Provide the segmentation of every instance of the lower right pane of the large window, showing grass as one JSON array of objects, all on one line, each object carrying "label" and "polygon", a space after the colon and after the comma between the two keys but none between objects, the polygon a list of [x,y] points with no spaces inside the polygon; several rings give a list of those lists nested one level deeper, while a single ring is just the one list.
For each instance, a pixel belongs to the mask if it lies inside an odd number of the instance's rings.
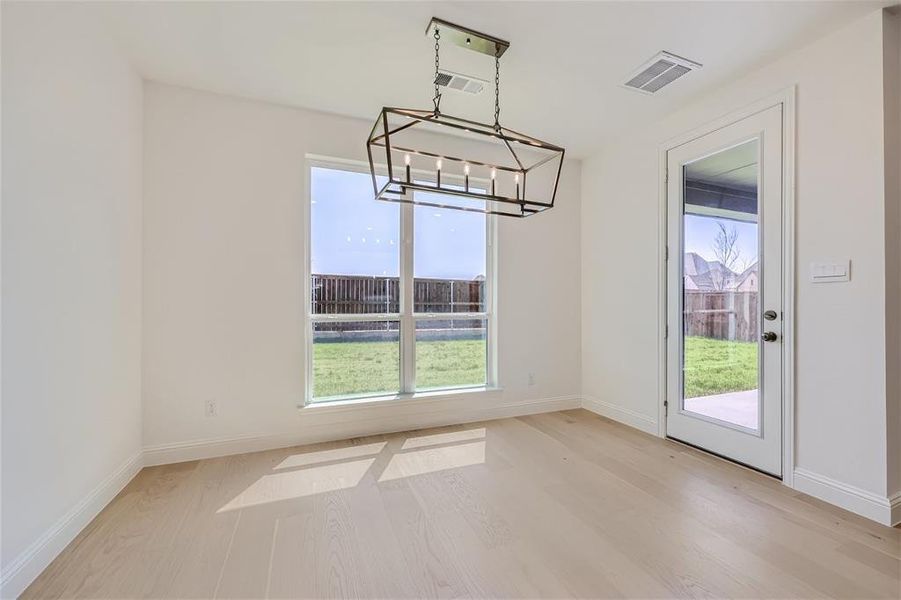
[{"label": "lower right pane of the large window, showing grass", "polygon": [[487,349],[484,319],[417,321],[416,388],[485,385]]}]

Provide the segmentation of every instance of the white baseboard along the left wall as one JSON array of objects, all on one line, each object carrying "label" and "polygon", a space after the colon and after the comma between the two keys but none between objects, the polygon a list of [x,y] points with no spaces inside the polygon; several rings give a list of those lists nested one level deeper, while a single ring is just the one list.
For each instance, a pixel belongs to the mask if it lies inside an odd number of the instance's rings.
[{"label": "white baseboard along the left wall", "polygon": [[141,467],[143,456],[138,452],[101,481],[22,554],[14,558],[0,578],[0,598],[15,598],[24,592],[25,588],[75,539],[75,536],[137,475]]}]

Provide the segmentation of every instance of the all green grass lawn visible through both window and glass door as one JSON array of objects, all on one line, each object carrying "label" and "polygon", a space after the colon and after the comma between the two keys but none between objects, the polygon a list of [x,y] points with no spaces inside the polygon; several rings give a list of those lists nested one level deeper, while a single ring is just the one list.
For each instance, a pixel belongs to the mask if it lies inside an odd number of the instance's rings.
[{"label": "all green grass lawn visible through both window and glass door", "polygon": [[[396,392],[400,367],[392,342],[313,345],[313,397]],[[416,386],[444,388],[485,383],[485,342],[454,340],[416,345]],[[757,387],[757,344],[702,337],[685,339],[685,397]]]}]

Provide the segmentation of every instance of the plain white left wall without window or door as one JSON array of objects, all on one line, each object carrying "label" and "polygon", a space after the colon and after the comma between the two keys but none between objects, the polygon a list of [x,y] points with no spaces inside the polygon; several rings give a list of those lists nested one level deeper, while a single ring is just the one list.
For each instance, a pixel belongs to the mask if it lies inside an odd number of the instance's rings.
[{"label": "plain white left wall without window or door", "polygon": [[137,468],[142,85],[77,7],[4,3],[2,36],[8,597]]}]

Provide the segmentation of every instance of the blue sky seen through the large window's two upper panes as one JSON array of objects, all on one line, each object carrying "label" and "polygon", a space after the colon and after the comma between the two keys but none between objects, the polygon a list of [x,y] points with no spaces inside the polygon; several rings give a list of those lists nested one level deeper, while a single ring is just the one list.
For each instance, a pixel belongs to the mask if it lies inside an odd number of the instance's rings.
[{"label": "blue sky seen through the large window's two upper panes", "polygon": [[[313,273],[397,277],[401,205],[374,200],[366,173],[313,168],[310,184]],[[416,207],[414,225],[415,277],[485,274],[484,215]]]}]

